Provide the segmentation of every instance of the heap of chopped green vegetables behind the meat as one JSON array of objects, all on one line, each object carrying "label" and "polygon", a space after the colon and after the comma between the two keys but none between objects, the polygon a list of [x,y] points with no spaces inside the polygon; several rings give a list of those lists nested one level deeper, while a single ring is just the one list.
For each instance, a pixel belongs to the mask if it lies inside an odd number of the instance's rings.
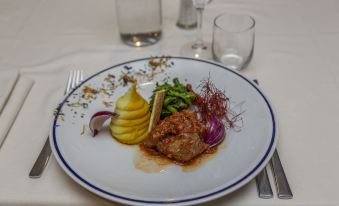
[{"label": "heap of chopped green vegetables behind the meat", "polygon": [[178,78],[175,78],[173,79],[173,85],[167,82],[156,84],[151,96],[150,105],[153,105],[155,93],[161,90],[165,91],[164,103],[160,114],[161,119],[182,109],[187,109],[193,104],[196,96],[194,92],[188,90],[187,86],[180,83]]}]

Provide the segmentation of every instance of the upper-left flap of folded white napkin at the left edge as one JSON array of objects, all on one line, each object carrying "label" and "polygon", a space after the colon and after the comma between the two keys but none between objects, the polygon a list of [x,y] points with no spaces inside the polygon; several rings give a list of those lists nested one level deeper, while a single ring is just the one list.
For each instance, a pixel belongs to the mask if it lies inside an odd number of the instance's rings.
[{"label": "upper-left flap of folded white napkin at the left edge", "polygon": [[4,108],[10,93],[12,92],[19,73],[16,70],[5,70],[0,73],[0,114]]}]

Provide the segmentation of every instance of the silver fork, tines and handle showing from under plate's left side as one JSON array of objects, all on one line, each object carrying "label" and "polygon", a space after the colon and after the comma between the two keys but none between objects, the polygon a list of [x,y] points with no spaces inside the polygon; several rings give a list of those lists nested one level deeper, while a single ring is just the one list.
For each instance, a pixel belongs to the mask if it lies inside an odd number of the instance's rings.
[{"label": "silver fork, tines and handle showing from under plate's left side", "polygon": [[[84,75],[82,70],[71,70],[69,73],[66,89],[64,95],[68,94],[72,89],[74,89],[80,82],[83,80]],[[51,145],[49,144],[49,136],[47,137],[44,147],[40,151],[38,158],[36,159],[30,173],[30,178],[40,178],[42,172],[44,171],[48,160],[52,154]]]}]

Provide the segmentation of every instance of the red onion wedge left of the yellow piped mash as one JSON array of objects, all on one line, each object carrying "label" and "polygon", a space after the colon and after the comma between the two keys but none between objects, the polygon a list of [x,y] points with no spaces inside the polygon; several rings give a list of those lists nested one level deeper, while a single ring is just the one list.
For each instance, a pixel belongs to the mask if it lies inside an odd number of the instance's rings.
[{"label": "red onion wedge left of the yellow piped mash", "polygon": [[99,133],[106,120],[117,116],[116,113],[109,111],[100,111],[93,114],[89,122],[89,128],[91,129],[93,137]]}]

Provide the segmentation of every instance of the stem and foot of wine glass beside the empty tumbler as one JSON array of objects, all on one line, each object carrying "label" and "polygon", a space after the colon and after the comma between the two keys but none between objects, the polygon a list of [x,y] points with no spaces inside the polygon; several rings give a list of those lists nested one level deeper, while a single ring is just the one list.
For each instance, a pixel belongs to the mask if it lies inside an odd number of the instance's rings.
[{"label": "stem and foot of wine glass beside the empty tumbler", "polygon": [[203,41],[202,38],[202,20],[205,6],[212,0],[192,0],[193,6],[197,11],[197,36],[194,42],[186,44],[181,49],[181,54],[184,56],[190,56],[195,58],[211,58],[210,43]]}]

